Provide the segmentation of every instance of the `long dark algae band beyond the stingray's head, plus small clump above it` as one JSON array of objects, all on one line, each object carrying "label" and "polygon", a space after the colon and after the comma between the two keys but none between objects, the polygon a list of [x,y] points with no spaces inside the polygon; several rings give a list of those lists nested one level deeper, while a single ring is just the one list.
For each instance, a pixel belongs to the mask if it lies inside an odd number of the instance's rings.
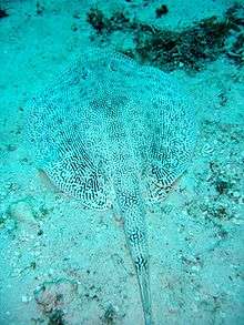
[{"label": "long dark algae band beyond the stingray's head, plus small clump above it", "polygon": [[[167,7],[156,9],[156,18],[167,13]],[[114,31],[132,34],[133,47],[121,49],[141,63],[165,71],[185,69],[201,71],[207,62],[226,55],[235,64],[244,62],[244,6],[234,4],[223,18],[211,17],[181,31],[172,31],[131,19],[124,12],[108,17],[98,8],[87,13],[88,22],[104,42]]]}]

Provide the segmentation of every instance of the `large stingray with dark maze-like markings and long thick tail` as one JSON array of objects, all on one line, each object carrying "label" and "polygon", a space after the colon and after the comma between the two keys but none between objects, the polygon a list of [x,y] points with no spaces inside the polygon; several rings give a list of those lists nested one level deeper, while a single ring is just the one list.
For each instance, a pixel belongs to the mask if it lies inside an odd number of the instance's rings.
[{"label": "large stingray with dark maze-like markings and long thick tail", "polygon": [[90,49],[30,101],[28,139],[37,165],[60,191],[85,207],[120,213],[144,323],[152,324],[146,211],[191,161],[191,93],[155,68]]}]

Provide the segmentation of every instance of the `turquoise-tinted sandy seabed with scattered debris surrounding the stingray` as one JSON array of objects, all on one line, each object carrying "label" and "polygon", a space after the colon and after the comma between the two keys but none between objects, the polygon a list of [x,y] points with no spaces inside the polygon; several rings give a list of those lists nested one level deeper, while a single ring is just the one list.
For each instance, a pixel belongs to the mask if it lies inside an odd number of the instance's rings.
[{"label": "turquoise-tinted sandy seabed with scattered debris surrounding the stingray", "polygon": [[[1,325],[143,324],[120,216],[83,211],[53,189],[22,141],[26,101],[96,42],[91,6],[126,7],[153,23],[161,2],[141,2],[0,1],[9,13],[0,19]],[[184,28],[233,4],[172,2],[160,27]],[[172,73],[200,94],[201,128],[191,167],[146,221],[154,324],[241,325],[244,69],[223,55],[192,75]]]}]

